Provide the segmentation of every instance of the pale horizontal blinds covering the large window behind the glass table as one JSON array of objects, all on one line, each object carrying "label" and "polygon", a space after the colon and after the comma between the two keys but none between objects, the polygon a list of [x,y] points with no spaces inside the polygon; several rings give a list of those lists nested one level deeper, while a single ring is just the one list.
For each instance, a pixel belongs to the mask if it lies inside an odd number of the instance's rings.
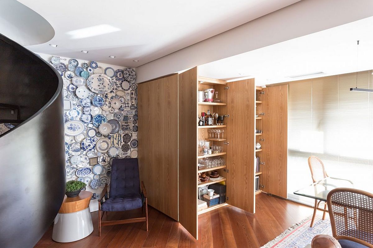
[{"label": "pale horizontal blinds covering the large window behind the glass table", "polygon": [[288,198],[312,183],[307,159],[323,160],[330,177],[351,179],[357,188],[373,188],[372,70],[289,82]]}]

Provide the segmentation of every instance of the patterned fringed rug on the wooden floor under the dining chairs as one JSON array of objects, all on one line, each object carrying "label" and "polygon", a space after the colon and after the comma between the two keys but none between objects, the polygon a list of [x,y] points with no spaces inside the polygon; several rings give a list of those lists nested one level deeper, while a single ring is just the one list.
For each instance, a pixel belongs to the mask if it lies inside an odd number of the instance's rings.
[{"label": "patterned fringed rug on the wooden floor under the dining chairs", "polygon": [[313,237],[317,234],[332,235],[329,220],[322,220],[321,216],[316,216],[312,228],[310,228],[310,224],[311,217],[308,217],[300,223],[292,225],[261,248],[304,248],[311,244]]}]

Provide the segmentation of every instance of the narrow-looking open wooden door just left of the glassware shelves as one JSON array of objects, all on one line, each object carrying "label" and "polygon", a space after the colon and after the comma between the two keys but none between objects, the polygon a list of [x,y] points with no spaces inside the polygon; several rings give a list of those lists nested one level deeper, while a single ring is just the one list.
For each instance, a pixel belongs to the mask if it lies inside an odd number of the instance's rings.
[{"label": "narrow-looking open wooden door just left of the glassware shelves", "polygon": [[197,67],[179,74],[179,113],[169,114],[179,115],[179,222],[197,239]]}]

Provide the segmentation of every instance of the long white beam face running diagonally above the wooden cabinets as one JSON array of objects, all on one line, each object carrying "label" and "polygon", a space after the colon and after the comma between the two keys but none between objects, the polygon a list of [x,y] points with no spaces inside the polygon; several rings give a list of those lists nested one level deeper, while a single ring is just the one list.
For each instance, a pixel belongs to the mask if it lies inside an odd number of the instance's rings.
[{"label": "long white beam face running diagonally above the wooden cabinets", "polygon": [[371,0],[303,0],[136,68],[137,82],[373,16]]}]

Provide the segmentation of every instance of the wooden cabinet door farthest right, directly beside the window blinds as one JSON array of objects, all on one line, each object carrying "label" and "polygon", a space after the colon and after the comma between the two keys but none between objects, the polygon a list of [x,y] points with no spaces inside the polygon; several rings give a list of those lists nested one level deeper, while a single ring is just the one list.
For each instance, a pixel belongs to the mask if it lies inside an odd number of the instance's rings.
[{"label": "wooden cabinet door farthest right, directly beside the window blinds", "polygon": [[263,191],[287,197],[288,85],[264,88]]}]

